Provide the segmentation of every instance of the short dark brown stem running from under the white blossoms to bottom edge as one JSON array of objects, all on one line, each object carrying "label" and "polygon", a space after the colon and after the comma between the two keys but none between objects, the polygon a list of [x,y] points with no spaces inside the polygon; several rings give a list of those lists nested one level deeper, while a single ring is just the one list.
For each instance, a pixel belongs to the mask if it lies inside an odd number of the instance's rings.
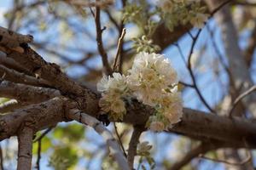
[{"label": "short dark brown stem running from under the white blossoms to bottom edge", "polygon": [[134,157],[137,155],[137,144],[139,143],[139,139],[143,131],[143,127],[133,127],[127,157],[128,164],[131,169],[133,169]]}]

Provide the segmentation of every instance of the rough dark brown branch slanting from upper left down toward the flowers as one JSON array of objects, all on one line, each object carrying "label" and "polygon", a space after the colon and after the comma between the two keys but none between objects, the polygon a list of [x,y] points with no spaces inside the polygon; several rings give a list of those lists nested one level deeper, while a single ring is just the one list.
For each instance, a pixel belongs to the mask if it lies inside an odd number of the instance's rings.
[{"label": "rough dark brown branch slanting from upper left down toward the flowers", "polygon": [[37,74],[38,77],[51,82],[52,87],[59,89],[61,94],[75,99],[79,104],[79,108],[83,111],[92,114],[96,114],[99,111],[98,105],[95,105],[97,103],[96,94],[67,77],[66,74],[61,72],[61,68],[58,65],[44,61],[32,48],[27,47],[24,54],[12,51],[8,54],[8,57],[15,59],[20,65]]}]

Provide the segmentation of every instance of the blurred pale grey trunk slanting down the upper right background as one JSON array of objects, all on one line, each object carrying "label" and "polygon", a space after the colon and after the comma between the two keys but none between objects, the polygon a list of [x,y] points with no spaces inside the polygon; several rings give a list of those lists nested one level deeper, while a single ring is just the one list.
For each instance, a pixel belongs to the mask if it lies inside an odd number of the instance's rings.
[{"label": "blurred pale grey trunk slanting down the upper right background", "polygon": [[[218,3],[222,3],[222,1],[212,0],[206,1],[206,3],[210,8],[216,8]],[[233,80],[232,86],[236,89],[236,95],[238,95],[239,93],[246,91],[248,87],[252,86],[253,81],[238,45],[236,26],[234,26],[229,6],[221,8],[216,14],[216,19],[222,33],[225,54],[230,65],[230,76]],[[249,95],[242,99],[243,105],[247,106],[248,111],[250,111],[253,116],[256,116],[255,100],[256,95]]]}]

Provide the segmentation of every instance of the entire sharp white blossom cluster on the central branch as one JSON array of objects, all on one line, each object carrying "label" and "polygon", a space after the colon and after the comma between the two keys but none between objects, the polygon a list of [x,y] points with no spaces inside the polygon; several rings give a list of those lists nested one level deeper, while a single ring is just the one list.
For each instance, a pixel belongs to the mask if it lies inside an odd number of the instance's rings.
[{"label": "entire sharp white blossom cluster on the central branch", "polygon": [[123,118],[126,97],[155,108],[147,124],[154,131],[162,131],[179,122],[183,115],[177,73],[162,54],[137,54],[127,76],[113,73],[113,77],[102,77],[97,89],[102,92],[102,111],[110,112],[114,119]]}]

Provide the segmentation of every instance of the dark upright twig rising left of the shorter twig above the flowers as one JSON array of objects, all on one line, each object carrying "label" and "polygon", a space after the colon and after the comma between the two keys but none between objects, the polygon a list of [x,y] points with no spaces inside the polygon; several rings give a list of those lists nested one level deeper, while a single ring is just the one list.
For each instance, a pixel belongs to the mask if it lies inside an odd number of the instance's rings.
[{"label": "dark upright twig rising left of the shorter twig above the flowers", "polygon": [[102,25],[101,25],[101,8],[96,7],[96,14],[95,14],[95,24],[96,24],[96,42],[98,51],[102,56],[102,65],[108,75],[111,74],[112,69],[110,65],[108,64],[108,54],[103,48],[103,42],[102,42]]}]

